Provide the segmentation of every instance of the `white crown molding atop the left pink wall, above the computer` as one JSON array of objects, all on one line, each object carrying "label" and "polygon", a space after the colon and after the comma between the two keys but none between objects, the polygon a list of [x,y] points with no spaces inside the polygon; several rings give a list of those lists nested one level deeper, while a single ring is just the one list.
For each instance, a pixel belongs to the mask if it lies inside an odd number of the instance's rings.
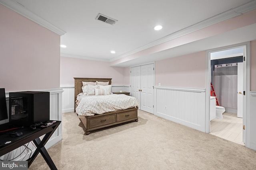
[{"label": "white crown molding atop the left pink wall, above the computer", "polygon": [[38,25],[41,25],[42,27],[58,34],[58,35],[64,35],[66,32],[59,29],[58,27],[52,25],[51,23],[49,23],[48,21],[40,18],[39,16],[37,16],[36,14],[30,12],[29,10],[27,10],[26,8],[24,8],[23,6],[21,6],[20,4],[18,4],[16,1],[12,1],[12,0],[0,0],[0,4],[2,4],[3,6],[5,6],[6,8],[9,8],[10,10],[24,16],[25,18],[28,18],[29,20],[37,23]]}]

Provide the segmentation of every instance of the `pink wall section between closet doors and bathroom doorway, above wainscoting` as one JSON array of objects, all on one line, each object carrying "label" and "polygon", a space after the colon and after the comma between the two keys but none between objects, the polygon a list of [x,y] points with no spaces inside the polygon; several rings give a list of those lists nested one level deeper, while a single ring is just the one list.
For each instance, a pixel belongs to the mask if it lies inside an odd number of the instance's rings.
[{"label": "pink wall section between closet doors and bathroom doorway, above wainscoting", "polygon": [[155,62],[156,86],[205,88],[206,51]]}]

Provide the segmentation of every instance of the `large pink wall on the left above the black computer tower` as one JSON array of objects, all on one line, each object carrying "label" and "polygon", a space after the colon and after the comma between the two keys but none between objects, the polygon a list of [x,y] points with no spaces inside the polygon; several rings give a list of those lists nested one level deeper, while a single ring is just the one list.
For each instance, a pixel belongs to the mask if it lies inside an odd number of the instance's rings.
[{"label": "large pink wall on the left above the black computer tower", "polygon": [[0,5],[0,37],[0,88],[59,88],[59,35]]}]

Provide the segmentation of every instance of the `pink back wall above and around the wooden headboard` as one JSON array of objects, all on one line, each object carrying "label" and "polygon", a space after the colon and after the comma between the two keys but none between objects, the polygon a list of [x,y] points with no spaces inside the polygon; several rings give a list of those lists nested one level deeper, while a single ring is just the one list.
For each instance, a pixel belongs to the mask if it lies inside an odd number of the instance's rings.
[{"label": "pink back wall above and around the wooden headboard", "polygon": [[109,63],[60,57],[60,85],[74,85],[74,77],[112,78],[112,84],[130,84],[127,68],[112,67]]}]

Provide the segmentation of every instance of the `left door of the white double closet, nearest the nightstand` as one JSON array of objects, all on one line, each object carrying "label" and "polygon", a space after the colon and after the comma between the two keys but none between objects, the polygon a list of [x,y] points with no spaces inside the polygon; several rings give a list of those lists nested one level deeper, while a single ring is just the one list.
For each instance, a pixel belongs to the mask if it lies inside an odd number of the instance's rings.
[{"label": "left door of the white double closet, nearest the nightstand", "polygon": [[[131,68],[131,96],[138,99],[140,104],[140,66]],[[140,109],[140,106],[139,108]]]}]

